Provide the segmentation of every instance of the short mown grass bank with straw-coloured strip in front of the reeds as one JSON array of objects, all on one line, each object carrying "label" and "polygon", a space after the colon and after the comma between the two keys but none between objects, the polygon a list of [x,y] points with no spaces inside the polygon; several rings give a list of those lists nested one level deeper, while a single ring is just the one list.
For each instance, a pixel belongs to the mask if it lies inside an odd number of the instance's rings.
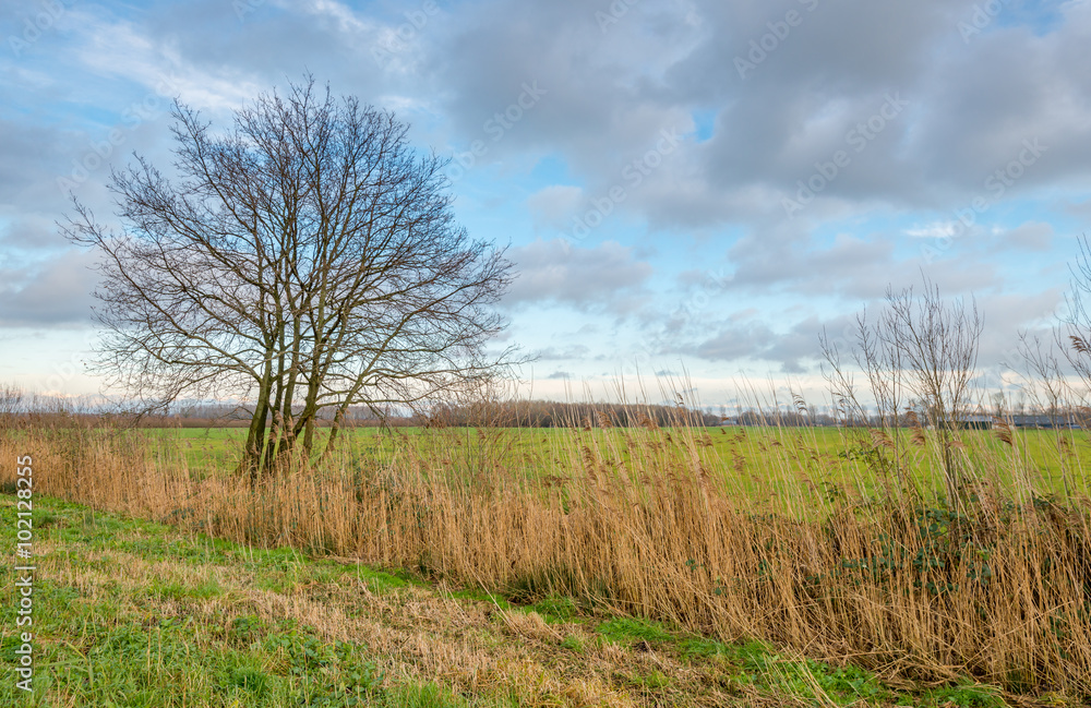
[{"label": "short mown grass bank with straw-coloured strip in front of the reeds", "polygon": [[[1003,705],[995,686],[886,684],[571,599],[518,607],[344,559],[35,505],[35,692],[4,681],[4,705]],[[10,547],[11,500],[0,516]],[[14,608],[0,607],[12,663]]]}]

